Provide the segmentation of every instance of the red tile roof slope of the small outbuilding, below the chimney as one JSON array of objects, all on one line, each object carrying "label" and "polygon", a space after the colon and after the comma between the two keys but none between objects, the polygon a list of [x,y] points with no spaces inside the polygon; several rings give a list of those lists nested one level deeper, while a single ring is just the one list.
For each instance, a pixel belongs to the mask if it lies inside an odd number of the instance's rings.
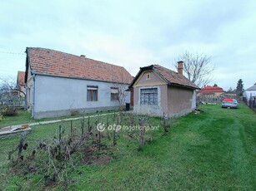
[{"label": "red tile roof slope of the small outbuilding, below the chimney", "polygon": [[178,74],[178,72],[171,71],[168,68],[159,65],[153,65],[153,68],[158,71],[159,74],[163,76],[163,78],[165,78],[170,84],[199,89],[198,86],[194,85],[192,81],[189,81],[185,76]]}]

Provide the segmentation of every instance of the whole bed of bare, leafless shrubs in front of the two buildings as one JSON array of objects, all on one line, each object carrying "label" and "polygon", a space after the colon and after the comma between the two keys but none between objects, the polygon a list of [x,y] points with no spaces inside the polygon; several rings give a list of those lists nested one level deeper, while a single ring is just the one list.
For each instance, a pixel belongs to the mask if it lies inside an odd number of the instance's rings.
[{"label": "whole bed of bare, leafless shrubs in front of the two buildings", "polygon": [[[152,125],[148,115],[118,112],[104,119],[103,116],[98,115],[96,118],[88,117],[88,120],[85,120],[85,118],[71,120],[67,123],[68,127],[59,125],[55,135],[38,140],[36,143],[34,140],[29,142],[23,137],[8,154],[11,172],[22,176],[40,174],[43,178],[39,182],[66,187],[72,180],[68,174],[77,172],[81,164],[108,164],[116,154],[120,154],[122,150],[119,148],[123,148],[125,142],[118,147],[118,141],[128,139],[128,146],[132,145],[133,150],[140,150],[153,140],[155,133],[146,128]],[[99,123],[107,127],[137,125],[140,129],[123,132],[113,129],[99,132],[96,128]],[[168,123],[164,122],[164,124],[167,126]],[[161,135],[158,134],[158,138],[161,138]]]}]

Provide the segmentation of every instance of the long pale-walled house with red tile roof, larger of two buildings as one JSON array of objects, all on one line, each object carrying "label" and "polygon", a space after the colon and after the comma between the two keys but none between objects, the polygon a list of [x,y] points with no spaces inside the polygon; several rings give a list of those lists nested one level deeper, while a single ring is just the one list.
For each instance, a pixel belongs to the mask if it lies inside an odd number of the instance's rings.
[{"label": "long pale-walled house with red tile roof, larger of two buildings", "polygon": [[120,87],[133,80],[122,66],[83,55],[38,47],[26,53],[28,110],[36,119],[118,109]]}]

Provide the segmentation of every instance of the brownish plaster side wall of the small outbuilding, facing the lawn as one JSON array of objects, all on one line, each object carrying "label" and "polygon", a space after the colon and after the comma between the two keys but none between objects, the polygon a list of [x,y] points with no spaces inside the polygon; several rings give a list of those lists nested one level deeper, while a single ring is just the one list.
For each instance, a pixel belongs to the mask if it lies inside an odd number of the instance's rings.
[{"label": "brownish plaster side wall of the small outbuilding, facing the lawn", "polygon": [[196,92],[178,86],[168,86],[168,115],[185,115],[196,108]]}]

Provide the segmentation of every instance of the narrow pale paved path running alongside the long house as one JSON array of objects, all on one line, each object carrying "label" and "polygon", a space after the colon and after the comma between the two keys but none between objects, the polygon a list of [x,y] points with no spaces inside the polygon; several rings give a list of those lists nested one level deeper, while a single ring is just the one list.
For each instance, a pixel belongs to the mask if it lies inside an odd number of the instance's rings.
[{"label": "narrow pale paved path running alongside the long house", "polygon": [[[35,123],[30,123],[30,124],[22,124],[22,125],[11,125],[7,127],[3,127],[0,129],[0,136],[1,135],[10,135],[18,132],[23,132],[27,130],[31,130],[30,127],[35,126],[35,125],[46,125],[46,124],[54,124],[54,123],[59,123],[62,121],[69,121],[69,120],[80,120],[80,119],[88,119],[88,117],[98,117],[98,116],[105,116],[105,115],[113,115],[114,113],[107,113],[107,114],[98,114],[98,115],[88,115],[88,116],[83,116],[83,117],[75,117],[75,118],[67,118],[63,120],[47,120],[47,121],[41,121],[41,122],[35,122]],[[23,125],[28,125],[29,128],[24,128]]]}]

